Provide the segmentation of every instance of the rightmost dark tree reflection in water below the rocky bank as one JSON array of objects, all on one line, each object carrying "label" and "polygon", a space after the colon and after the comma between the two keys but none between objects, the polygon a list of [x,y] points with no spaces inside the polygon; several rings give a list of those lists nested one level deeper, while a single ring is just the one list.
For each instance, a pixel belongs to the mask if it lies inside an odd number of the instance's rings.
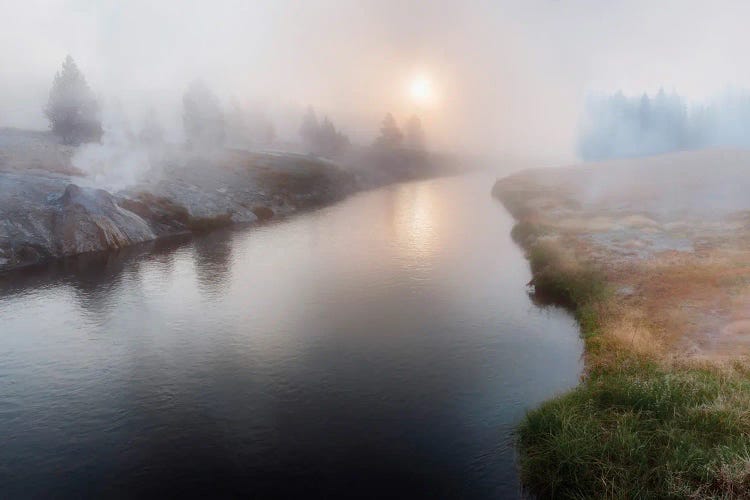
[{"label": "rightmost dark tree reflection in water below the rocky bank", "polygon": [[217,230],[193,242],[193,256],[198,286],[202,292],[218,294],[228,285],[232,268],[232,233]]}]

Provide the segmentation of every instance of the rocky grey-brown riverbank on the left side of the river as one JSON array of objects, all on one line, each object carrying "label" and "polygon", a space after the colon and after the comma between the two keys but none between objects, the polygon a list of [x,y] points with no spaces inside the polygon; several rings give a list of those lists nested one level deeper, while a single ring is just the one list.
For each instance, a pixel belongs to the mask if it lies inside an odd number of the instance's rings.
[{"label": "rocky grey-brown riverbank on the left side of the river", "polygon": [[[381,171],[371,168],[378,160],[372,155],[360,155],[352,167],[293,153],[164,147],[143,153],[151,155],[148,171],[113,188],[107,178],[77,167],[76,150],[47,133],[0,132],[0,271],[255,223],[437,172],[426,157],[406,161],[410,168]],[[105,168],[120,168],[116,157],[109,161]]]}]

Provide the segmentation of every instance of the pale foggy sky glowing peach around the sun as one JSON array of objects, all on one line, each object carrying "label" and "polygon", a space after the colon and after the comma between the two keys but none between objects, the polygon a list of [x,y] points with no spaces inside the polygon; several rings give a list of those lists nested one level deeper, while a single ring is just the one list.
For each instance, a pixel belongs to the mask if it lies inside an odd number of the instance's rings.
[{"label": "pale foggy sky glowing peach around the sun", "polygon": [[[418,111],[451,150],[572,158],[587,92],[750,88],[744,1],[0,0],[0,126],[45,128],[71,54],[103,99],[179,123],[188,83],[262,102],[279,132],[308,104],[354,141]],[[409,98],[418,75],[436,102]]]}]

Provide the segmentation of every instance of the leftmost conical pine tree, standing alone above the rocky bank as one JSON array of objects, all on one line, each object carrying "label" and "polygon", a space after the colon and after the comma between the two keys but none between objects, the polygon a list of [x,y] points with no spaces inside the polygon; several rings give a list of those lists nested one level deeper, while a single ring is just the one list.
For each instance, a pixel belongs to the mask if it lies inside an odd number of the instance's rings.
[{"label": "leftmost conical pine tree, standing alone above the rocky bank", "polygon": [[44,114],[50,129],[64,144],[99,141],[102,124],[99,104],[81,71],[70,56],[55,75]]}]

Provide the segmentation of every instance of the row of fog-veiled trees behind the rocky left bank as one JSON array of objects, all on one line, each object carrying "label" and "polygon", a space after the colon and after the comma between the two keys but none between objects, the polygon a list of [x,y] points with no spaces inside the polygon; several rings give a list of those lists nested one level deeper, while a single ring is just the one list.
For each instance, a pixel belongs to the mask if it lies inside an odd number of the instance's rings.
[{"label": "row of fog-veiled trees behind the rocky left bank", "polygon": [[[98,142],[102,137],[104,129],[99,103],[70,56],[66,57],[55,76],[44,112],[50,129],[64,144]],[[122,112],[120,115],[120,122],[124,123],[126,117]],[[233,99],[225,111],[216,94],[200,80],[191,83],[183,95],[182,126],[187,147],[196,150],[267,146],[276,138],[273,123],[260,106],[246,108]],[[349,138],[331,119],[328,116],[318,119],[312,107],[302,118],[299,134],[303,148],[310,154],[336,157],[350,147]],[[165,133],[156,112],[150,109],[144,116],[140,132],[132,133],[128,126],[127,136],[146,147],[156,147],[164,143]],[[422,122],[417,116],[412,116],[402,131],[393,115],[388,113],[374,147],[381,150],[424,149]]]}]

